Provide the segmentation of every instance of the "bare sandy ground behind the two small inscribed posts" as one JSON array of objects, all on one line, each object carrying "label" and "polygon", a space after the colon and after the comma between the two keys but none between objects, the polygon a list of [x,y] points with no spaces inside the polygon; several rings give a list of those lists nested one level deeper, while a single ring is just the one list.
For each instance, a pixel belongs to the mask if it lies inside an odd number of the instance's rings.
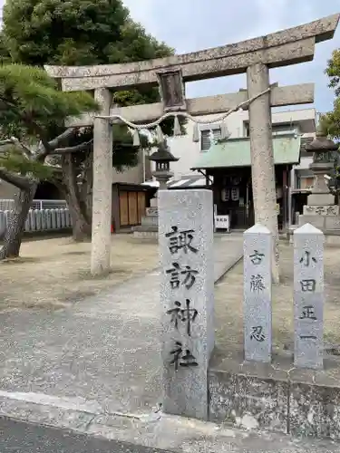
[{"label": "bare sandy ground behind the two small inscribed posts", "polygon": [[[325,345],[339,347],[340,354],[340,268],[339,246],[325,246]],[[293,348],[293,246],[280,244],[280,284],[273,286],[273,346]],[[215,289],[217,341],[241,348],[243,343],[243,262],[234,267]]]}]

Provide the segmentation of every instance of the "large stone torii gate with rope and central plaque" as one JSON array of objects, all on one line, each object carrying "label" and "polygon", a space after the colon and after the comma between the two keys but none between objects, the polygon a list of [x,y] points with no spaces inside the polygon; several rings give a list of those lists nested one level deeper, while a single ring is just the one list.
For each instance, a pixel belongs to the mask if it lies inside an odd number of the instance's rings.
[{"label": "large stone torii gate with rope and central plaque", "polygon": [[[312,103],[314,84],[277,87],[269,83],[269,69],[312,61],[315,44],[331,39],[340,14],[330,15],[275,34],[195,53],[135,63],[94,66],[45,66],[60,80],[63,91],[94,91],[102,105],[99,115],[70,119],[68,126],[93,125],[92,275],[110,269],[112,221],[112,121],[141,129],[166,116],[194,116],[249,110],[252,187],[256,222],[267,226],[277,244],[276,186],[271,107]],[[247,90],[186,99],[185,82],[247,72]],[[112,92],[159,85],[161,102],[112,108]],[[156,121],[155,121],[156,120]],[[278,254],[274,260],[278,280]]]}]

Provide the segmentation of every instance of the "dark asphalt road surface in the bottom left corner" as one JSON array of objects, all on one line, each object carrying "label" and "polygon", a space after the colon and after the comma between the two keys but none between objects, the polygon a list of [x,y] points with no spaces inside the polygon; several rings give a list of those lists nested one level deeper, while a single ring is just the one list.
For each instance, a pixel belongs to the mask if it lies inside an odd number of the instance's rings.
[{"label": "dark asphalt road surface in the bottom left corner", "polygon": [[115,440],[0,418],[1,453],[166,453]]}]

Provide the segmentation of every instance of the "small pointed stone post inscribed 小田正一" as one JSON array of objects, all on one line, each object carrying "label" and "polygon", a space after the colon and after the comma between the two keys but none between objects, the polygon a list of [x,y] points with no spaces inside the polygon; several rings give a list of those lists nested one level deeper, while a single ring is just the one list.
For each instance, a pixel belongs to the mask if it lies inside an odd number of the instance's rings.
[{"label": "small pointed stone post inscribed \u5c0f\u7530\u6b63\u4e00", "polygon": [[294,232],[294,363],[302,368],[324,363],[324,242],[311,224]]}]

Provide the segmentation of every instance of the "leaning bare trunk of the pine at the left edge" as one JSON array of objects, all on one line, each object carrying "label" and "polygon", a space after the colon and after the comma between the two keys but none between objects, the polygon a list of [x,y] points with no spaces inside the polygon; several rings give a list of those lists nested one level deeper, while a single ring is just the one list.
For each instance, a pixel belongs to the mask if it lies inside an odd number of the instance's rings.
[{"label": "leaning bare trunk of the pine at the left edge", "polygon": [[8,227],[5,231],[4,246],[0,250],[0,260],[19,256],[24,236],[24,223],[34,200],[37,183],[32,183],[27,190],[19,189],[15,206],[11,212]]}]

